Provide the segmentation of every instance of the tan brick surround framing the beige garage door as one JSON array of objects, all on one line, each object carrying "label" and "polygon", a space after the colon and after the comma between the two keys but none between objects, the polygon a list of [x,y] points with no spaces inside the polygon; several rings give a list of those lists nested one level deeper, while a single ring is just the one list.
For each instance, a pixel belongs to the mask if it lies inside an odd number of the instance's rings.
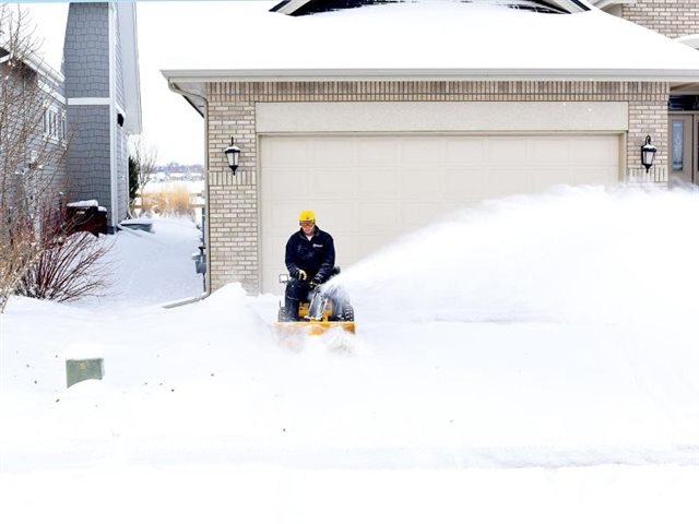
[{"label": "tan brick surround framing the beige garage door", "polygon": [[[259,291],[256,110],[258,102],[628,102],[628,174],[640,169],[647,134],[659,148],[654,175],[667,164],[666,83],[640,82],[217,82],[208,86],[209,285],[241,282]],[[234,177],[223,150],[240,147]],[[653,175],[653,172],[651,172]]]}]

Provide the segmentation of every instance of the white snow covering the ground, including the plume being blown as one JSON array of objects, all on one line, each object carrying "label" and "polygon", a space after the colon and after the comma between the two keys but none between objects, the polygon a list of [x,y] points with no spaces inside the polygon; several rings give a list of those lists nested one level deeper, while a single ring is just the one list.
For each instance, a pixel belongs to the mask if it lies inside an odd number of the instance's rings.
[{"label": "white snow covering the ground, including the plume being blown", "polygon": [[[688,189],[488,202],[293,345],[235,283],[161,307],[201,293],[191,223],[120,233],[111,294],[0,315],[0,522],[696,523],[697,224]],[[78,352],[105,378],[66,389]]]}]

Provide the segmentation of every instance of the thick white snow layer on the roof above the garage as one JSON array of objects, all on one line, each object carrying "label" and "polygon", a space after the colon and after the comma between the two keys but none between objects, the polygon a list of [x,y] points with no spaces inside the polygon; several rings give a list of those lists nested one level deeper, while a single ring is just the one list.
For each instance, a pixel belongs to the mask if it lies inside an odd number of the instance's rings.
[{"label": "thick white snow layer on the roof above the garage", "polygon": [[699,81],[699,53],[594,8],[543,14],[434,0],[295,17],[269,12],[272,7],[202,4],[180,31],[206,31],[198,32],[187,49],[170,52],[164,74],[179,82],[390,73]]}]

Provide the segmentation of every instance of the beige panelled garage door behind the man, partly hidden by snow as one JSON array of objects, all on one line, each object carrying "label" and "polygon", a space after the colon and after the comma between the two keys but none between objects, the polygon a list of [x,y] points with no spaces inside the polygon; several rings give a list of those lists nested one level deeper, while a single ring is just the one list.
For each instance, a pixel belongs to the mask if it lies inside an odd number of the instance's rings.
[{"label": "beige panelled garage door behind the man, partly hidden by snow", "polygon": [[264,293],[282,293],[284,246],[316,211],[344,269],[481,200],[619,178],[619,135],[268,136],[261,140]]}]

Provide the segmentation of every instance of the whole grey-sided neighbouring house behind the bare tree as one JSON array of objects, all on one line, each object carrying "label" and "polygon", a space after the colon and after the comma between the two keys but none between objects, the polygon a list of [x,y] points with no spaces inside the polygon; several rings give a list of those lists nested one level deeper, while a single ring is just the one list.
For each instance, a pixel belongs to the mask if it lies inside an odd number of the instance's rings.
[{"label": "whole grey-sided neighbouring house behind the bare tree", "polygon": [[[67,201],[97,201],[107,210],[108,228],[114,231],[128,213],[127,136],[141,132],[135,7],[126,2],[71,3],[51,5],[51,14],[60,13],[57,8],[68,9],[61,43],[45,38],[40,15],[46,19],[46,13],[40,12],[42,8],[23,7],[29,16],[25,19],[24,31],[33,32],[43,43],[38,52],[26,58],[35,71],[29,80],[38,82],[47,96],[40,102],[46,106],[42,136],[45,140],[37,142],[38,135],[29,139],[26,166],[16,170],[50,177],[56,191],[63,192]],[[62,53],[57,52],[60,49]],[[0,51],[0,62],[8,60],[9,53],[3,57]],[[68,153],[39,151],[40,142],[49,148],[68,147]],[[56,162],[59,156],[60,164]],[[40,164],[40,172],[27,169],[29,163]]]}]

